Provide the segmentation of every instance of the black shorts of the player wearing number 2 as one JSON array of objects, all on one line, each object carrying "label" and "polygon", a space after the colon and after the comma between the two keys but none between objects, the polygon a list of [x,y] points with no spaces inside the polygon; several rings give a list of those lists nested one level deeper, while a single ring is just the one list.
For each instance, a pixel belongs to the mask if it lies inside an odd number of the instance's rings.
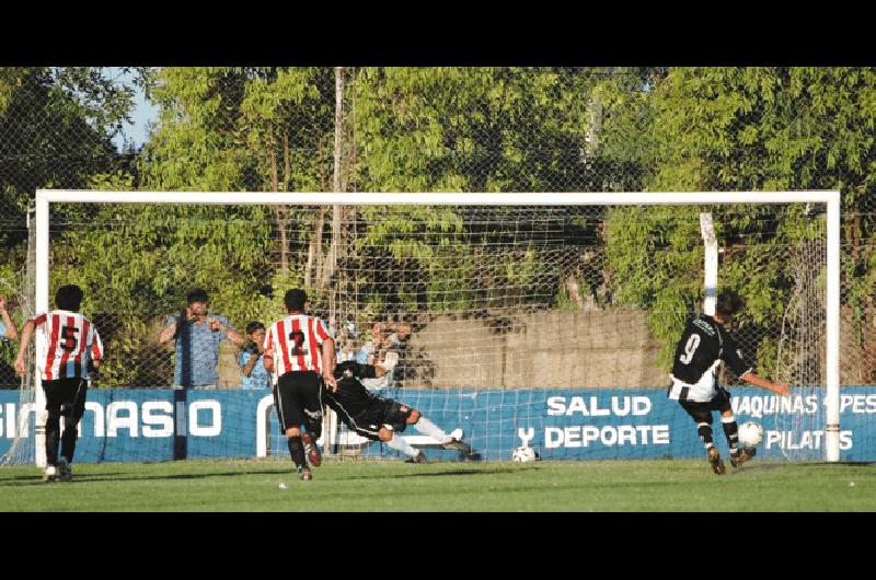
[{"label": "black shorts of the player wearing number 2", "polygon": [[280,431],[292,427],[322,433],[322,378],[313,371],[287,372],[274,388],[274,405],[280,420]]}]

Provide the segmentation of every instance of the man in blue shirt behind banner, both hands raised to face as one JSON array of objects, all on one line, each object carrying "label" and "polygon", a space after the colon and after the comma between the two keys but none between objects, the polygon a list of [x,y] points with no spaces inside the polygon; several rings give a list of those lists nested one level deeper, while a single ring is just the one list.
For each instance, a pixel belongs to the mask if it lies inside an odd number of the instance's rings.
[{"label": "man in blue shirt behind banner, both hands raised to face", "polygon": [[228,338],[238,346],[246,340],[224,316],[209,314],[209,297],[200,288],[186,295],[187,308],[178,316],[168,316],[159,343],[176,341],[174,385],[188,388],[216,388],[219,343]]}]

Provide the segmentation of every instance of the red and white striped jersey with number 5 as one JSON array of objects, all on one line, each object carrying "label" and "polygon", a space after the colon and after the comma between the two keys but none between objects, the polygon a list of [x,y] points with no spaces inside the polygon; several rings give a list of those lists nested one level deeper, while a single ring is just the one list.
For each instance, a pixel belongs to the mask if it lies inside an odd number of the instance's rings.
[{"label": "red and white striped jersey with number 5", "polygon": [[94,324],[78,312],[53,310],[34,318],[45,337],[45,352],[36,367],[44,381],[88,376],[89,360],[103,359],[103,344]]}]

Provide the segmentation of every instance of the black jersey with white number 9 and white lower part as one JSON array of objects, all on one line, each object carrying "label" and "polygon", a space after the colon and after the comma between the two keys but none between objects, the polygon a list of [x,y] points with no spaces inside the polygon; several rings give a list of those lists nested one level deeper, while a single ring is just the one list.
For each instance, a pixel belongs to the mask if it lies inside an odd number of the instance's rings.
[{"label": "black jersey with white number 9 and white lower part", "polygon": [[726,362],[742,376],[753,369],[742,358],[736,339],[712,316],[692,318],[676,347],[669,398],[706,403],[717,395],[718,363]]}]

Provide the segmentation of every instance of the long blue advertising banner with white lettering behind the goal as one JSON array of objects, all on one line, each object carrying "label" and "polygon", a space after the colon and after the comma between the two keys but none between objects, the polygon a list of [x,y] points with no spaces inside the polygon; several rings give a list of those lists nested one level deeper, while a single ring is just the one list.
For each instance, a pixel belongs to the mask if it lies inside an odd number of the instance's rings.
[{"label": "long blue advertising banner with white lettering behind the goal", "polygon": [[[633,460],[702,457],[693,420],[662,390],[403,391],[382,396],[419,409],[464,439],[485,460],[507,460],[527,444],[544,460]],[[823,459],[825,405],[821,393],[792,390],[780,397],[760,388],[730,391],[739,424],[763,427],[759,454],[766,457]],[[843,461],[876,461],[873,437],[876,386],[843,387],[840,449]],[[33,446],[34,413],[22,408],[16,391],[0,391],[0,454],[11,445],[16,426]],[[718,449],[726,450],[717,414],[713,425]],[[392,454],[385,445],[339,437],[366,454]],[[80,426],[78,462],[168,461],[173,459],[253,457],[285,454],[273,398],[267,391],[93,390]],[[408,426],[412,444],[423,436]],[[429,457],[452,459],[434,450]]]}]

